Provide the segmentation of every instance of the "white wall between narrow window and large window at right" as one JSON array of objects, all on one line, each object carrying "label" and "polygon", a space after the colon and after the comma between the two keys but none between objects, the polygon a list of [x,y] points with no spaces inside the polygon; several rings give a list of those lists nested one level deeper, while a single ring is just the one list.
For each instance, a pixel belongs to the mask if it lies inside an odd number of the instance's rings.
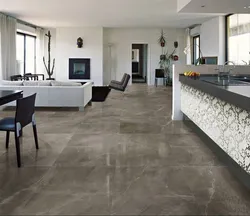
[{"label": "white wall between narrow window and large window at right", "polygon": [[219,16],[208,20],[200,27],[203,56],[218,56],[218,64],[225,62],[225,18]]}]

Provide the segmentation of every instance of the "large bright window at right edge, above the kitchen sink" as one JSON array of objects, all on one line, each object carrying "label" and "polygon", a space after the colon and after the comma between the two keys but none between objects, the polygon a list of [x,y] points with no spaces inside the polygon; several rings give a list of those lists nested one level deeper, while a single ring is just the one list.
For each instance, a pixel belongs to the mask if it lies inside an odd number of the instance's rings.
[{"label": "large bright window at right edge, above the kitchen sink", "polygon": [[250,64],[250,14],[227,16],[226,60]]}]

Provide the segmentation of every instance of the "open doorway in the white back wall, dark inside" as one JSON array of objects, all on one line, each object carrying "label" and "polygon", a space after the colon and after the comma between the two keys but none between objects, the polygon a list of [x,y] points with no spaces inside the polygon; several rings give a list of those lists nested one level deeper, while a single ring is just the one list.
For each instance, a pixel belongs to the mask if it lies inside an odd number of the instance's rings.
[{"label": "open doorway in the white back wall, dark inside", "polygon": [[147,83],[148,44],[132,44],[132,83]]}]

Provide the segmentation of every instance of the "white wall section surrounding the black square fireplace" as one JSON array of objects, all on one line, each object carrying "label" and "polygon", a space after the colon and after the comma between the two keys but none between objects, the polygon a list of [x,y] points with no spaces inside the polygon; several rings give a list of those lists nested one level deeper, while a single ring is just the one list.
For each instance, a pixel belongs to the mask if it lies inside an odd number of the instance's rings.
[{"label": "white wall section surrounding the black square fireplace", "polygon": [[[79,37],[83,38],[83,48],[77,48]],[[103,54],[103,28],[56,29],[57,80],[69,80],[69,58],[90,58],[91,81],[95,85],[103,85]]]}]

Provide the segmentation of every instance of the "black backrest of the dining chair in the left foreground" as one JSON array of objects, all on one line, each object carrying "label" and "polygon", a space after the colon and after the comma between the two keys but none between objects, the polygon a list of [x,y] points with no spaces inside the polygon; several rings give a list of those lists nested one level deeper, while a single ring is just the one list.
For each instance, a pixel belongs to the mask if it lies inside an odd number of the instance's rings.
[{"label": "black backrest of the dining chair in the left foreground", "polygon": [[35,113],[35,100],[36,94],[17,100],[15,121],[19,122],[22,128],[32,122]]}]

